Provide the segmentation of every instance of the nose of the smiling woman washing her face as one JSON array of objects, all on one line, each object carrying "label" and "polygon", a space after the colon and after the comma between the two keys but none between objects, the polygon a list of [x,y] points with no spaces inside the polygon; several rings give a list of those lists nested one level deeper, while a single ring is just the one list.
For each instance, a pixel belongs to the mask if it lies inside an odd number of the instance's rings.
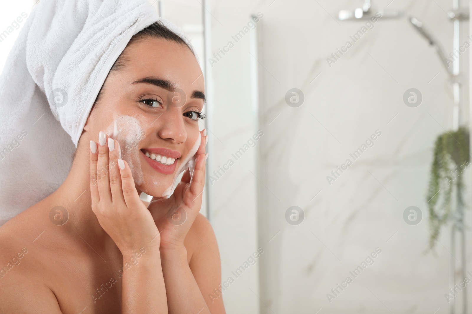
[{"label": "nose of the smiling woman washing her face", "polygon": [[156,122],[159,125],[157,134],[160,138],[174,144],[184,143],[187,139],[184,116],[178,108],[165,111]]}]

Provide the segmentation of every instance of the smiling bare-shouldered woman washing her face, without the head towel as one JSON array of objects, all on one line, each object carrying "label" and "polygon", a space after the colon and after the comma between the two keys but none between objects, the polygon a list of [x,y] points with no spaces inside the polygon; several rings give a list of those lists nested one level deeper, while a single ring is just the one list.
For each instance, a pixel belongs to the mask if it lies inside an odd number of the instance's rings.
[{"label": "smiling bare-shouldered woman washing her face, without the head towel", "polygon": [[[220,289],[219,251],[199,214],[201,73],[159,22],[133,36],[65,182],[0,228],[0,313],[225,313],[222,298],[210,297]],[[139,199],[168,194],[192,156],[193,173],[169,198]]]}]

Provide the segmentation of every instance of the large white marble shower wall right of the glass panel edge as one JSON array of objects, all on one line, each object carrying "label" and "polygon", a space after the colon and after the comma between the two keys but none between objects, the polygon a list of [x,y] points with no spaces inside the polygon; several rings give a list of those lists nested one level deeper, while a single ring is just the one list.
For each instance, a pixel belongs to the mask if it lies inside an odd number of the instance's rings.
[{"label": "large white marble shower wall right of the glass panel edge", "polygon": [[[430,235],[425,198],[432,148],[438,134],[452,127],[451,85],[434,48],[406,18],[380,19],[329,67],[326,58],[364,24],[337,22],[332,17],[340,9],[361,4],[360,0],[212,4],[211,12],[222,24],[227,15],[264,14],[258,56],[264,136],[258,143],[262,183],[257,182],[257,226],[259,246],[265,251],[258,261],[260,312],[246,313],[449,313],[444,297],[451,259],[447,229],[438,237],[436,254],[424,251]],[[386,0],[373,5],[374,9],[388,5],[416,16],[447,54],[452,51],[452,23],[446,15],[451,1]],[[213,24],[215,37],[225,37],[220,34],[221,25]],[[463,31],[468,32],[468,24]],[[468,51],[461,62],[467,89]],[[223,132],[226,121],[233,125],[232,119],[249,114],[244,105],[231,100],[247,92],[244,85],[232,80],[234,72],[245,65],[226,66],[225,73],[219,72],[215,88],[223,89],[220,93],[228,101],[218,105],[230,106],[235,113],[226,118],[217,115],[215,119],[222,122],[215,132]],[[299,108],[289,107],[284,100],[291,88],[301,89],[305,95]],[[403,103],[403,94],[410,88],[423,95],[417,108]],[[468,93],[462,96],[465,123]],[[240,127],[243,132],[245,124]],[[381,136],[375,145],[329,185],[326,177],[331,170],[350,158],[349,153],[376,130]],[[237,166],[238,175],[247,172],[244,164]],[[244,199],[248,190],[243,181],[228,182],[223,199],[215,200],[220,204],[219,215],[237,217],[233,202]],[[470,205],[470,196],[467,201]],[[305,212],[301,225],[289,225],[285,220],[286,210],[294,205]],[[422,210],[419,225],[407,225],[403,220],[403,211],[411,205]],[[227,222],[215,227],[221,243],[236,225]],[[470,248],[470,233],[467,236]],[[357,278],[350,275],[376,248],[381,253],[374,264]],[[227,250],[230,248],[222,248]],[[455,256],[460,259],[459,253]],[[471,258],[470,249],[467,257]],[[329,302],[327,294],[347,276],[353,282]],[[455,299],[463,297],[459,294]],[[228,313],[240,312],[228,307]]]}]

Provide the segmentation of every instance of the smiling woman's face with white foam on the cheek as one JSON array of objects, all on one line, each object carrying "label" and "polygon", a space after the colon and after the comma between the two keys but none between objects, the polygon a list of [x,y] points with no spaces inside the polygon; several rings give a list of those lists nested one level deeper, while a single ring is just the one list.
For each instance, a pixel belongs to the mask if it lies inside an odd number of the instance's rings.
[{"label": "smiling woman's face with white foam on the cheek", "polygon": [[100,131],[118,141],[138,190],[169,195],[200,144],[202,70],[186,46],[164,39],[138,40],[123,56],[84,131],[95,142]]}]

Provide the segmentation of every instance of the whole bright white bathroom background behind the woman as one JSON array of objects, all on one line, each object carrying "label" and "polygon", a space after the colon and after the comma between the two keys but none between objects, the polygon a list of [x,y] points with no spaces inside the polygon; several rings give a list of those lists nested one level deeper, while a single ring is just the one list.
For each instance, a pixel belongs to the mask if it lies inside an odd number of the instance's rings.
[{"label": "whole bright white bathroom background behind the woman", "polygon": [[[451,19],[457,3],[150,2],[192,39],[204,71],[209,119],[201,128],[210,134],[210,156],[201,212],[219,242],[228,314],[472,313],[464,302],[472,295],[464,283],[464,274],[472,280],[468,168],[464,254],[451,221],[428,250],[434,143],[457,127],[454,95],[459,125],[469,126],[468,45],[454,79],[430,45],[452,61],[454,27],[460,46],[471,43],[468,19]],[[12,22],[35,3],[2,4],[0,69],[23,25]],[[467,17],[469,5],[460,2]],[[355,8],[354,16],[381,17],[371,24],[338,18]],[[413,104],[409,89],[417,90]],[[465,289],[449,291],[461,283]]]}]

